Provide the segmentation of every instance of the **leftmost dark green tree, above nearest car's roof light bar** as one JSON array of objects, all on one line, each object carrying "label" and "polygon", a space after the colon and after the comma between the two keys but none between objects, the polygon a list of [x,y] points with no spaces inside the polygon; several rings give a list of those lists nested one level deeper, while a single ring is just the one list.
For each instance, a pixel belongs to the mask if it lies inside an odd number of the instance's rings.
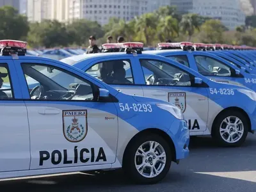
[{"label": "leftmost dark green tree, above nearest car's roof light bar", "polygon": [[27,17],[20,15],[12,6],[0,8],[1,39],[25,40],[29,31]]}]

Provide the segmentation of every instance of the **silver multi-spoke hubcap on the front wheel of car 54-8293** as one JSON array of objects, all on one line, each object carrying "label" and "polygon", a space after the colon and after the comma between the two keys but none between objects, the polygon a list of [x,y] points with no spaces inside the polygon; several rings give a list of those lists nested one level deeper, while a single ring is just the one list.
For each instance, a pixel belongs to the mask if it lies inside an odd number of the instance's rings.
[{"label": "silver multi-spoke hubcap on the front wheel of car 54-8293", "polygon": [[143,177],[156,177],[163,171],[166,164],[165,150],[156,141],[147,141],[136,151],[134,163],[136,170]]}]

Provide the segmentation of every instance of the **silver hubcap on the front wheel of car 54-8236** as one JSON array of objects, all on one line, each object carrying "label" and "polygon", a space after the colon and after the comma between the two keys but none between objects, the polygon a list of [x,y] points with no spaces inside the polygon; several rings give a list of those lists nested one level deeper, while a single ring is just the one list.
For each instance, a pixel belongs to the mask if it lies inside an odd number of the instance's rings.
[{"label": "silver hubcap on the front wheel of car 54-8236", "polygon": [[244,124],[237,116],[228,116],[220,124],[221,138],[227,143],[236,143],[244,134]]}]

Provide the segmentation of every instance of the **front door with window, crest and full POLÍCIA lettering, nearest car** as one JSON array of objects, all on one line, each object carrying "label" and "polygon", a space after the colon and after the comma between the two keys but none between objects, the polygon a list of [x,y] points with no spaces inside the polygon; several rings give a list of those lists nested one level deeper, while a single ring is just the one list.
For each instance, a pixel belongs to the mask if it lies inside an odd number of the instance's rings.
[{"label": "front door with window, crest and full POL\u00cdCIA lettering, nearest car", "polygon": [[[26,84],[22,95],[28,109],[30,169],[99,164],[109,168],[116,156],[117,111],[113,102],[92,100],[99,84],[58,62],[16,60],[15,65],[22,74],[19,81]],[[53,71],[59,78],[52,78]],[[39,83],[30,93],[29,78]]]}]

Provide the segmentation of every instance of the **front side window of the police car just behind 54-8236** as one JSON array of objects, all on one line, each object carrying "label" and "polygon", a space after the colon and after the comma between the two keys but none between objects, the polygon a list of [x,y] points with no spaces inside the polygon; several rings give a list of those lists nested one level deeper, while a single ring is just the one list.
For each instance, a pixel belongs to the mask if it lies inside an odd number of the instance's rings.
[{"label": "front side window of the police car just behind 54-8236", "polygon": [[231,77],[232,68],[208,56],[194,56],[198,72],[204,76]]}]

